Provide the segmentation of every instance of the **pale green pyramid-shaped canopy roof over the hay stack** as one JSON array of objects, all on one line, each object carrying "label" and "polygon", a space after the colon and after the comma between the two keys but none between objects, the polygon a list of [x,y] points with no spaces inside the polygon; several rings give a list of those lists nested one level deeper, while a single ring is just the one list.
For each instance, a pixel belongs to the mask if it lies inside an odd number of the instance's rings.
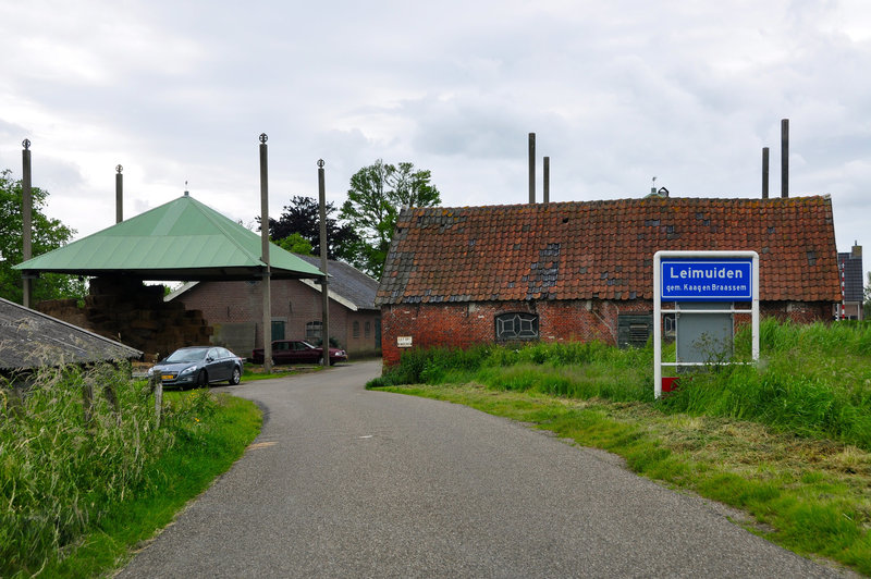
[{"label": "pale green pyramid-shaped canopy roof over the hay stack", "polygon": [[[143,280],[252,280],[262,275],[260,235],[188,195],[15,266],[26,273]],[[321,278],[318,268],[270,244],[272,279]]]}]

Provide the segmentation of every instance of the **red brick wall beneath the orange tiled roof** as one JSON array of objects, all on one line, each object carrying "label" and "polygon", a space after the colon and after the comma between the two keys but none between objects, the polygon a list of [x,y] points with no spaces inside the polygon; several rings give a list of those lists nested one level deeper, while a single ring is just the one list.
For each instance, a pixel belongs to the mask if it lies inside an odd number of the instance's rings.
[{"label": "red brick wall beneath the orange tiled roof", "polygon": [[[830,320],[831,307],[827,303],[770,303],[760,306],[760,315],[809,323]],[[381,308],[384,366],[400,361],[404,349],[396,345],[400,336],[410,336],[413,347],[417,348],[466,348],[494,342],[495,317],[513,311],[538,313],[539,335],[544,342],[600,340],[616,345],[617,317],[622,313],[651,313],[653,303],[591,299],[387,305]],[[747,318],[749,320],[749,316]]]}]

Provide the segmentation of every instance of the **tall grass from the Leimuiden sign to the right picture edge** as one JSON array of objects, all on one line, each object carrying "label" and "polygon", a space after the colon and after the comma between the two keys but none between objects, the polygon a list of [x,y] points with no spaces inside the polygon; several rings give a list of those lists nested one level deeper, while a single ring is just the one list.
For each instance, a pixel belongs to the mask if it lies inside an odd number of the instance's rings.
[{"label": "tall grass from the Leimuiden sign to the right picture edge", "polygon": [[[749,350],[749,331],[739,348]],[[759,366],[696,372],[663,401],[672,411],[753,420],[871,449],[871,325],[766,319]]]}]

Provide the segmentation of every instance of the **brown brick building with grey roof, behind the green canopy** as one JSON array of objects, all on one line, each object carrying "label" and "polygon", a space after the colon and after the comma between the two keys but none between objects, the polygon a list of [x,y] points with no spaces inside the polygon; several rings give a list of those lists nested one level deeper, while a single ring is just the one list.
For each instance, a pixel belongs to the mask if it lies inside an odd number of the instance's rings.
[{"label": "brown brick building with grey roof, behind the green canopy", "polygon": [[[296,255],[296,254],[294,254]],[[300,256],[319,267],[320,258]],[[381,311],[375,306],[378,281],[341,261],[329,261],[330,335],[351,356],[380,353]],[[262,291],[259,281],[191,282],[167,296],[187,310],[203,312],[213,329],[211,343],[240,356],[262,347]],[[315,280],[273,280],[272,340],[321,338],[321,290]]]}]

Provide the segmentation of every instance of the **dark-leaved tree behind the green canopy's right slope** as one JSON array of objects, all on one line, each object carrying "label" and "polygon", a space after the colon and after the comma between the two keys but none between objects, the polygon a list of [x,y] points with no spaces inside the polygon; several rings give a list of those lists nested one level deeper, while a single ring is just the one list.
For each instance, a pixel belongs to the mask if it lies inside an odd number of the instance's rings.
[{"label": "dark-leaved tree behind the green canopy's right slope", "polygon": [[[345,259],[351,248],[355,247],[357,235],[346,224],[339,224],[330,215],[335,213],[335,206],[327,204],[327,257],[329,259]],[[260,218],[257,218],[260,222]],[[296,195],[291,198],[291,205],[284,206],[284,212],[278,220],[269,219],[269,238],[279,246],[284,247],[281,241],[298,234],[309,243],[308,255],[320,256],[320,204],[311,197]],[[293,246],[296,242],[290,242]],[[304,246],[303,246],[304,247]],[[284,247],[287,249],[286,247]],[[292,249],[289,249],[289,251]],[[295,250],[293,250],[295,251]],[[303,251],[296,251],[303,252]]]}]

